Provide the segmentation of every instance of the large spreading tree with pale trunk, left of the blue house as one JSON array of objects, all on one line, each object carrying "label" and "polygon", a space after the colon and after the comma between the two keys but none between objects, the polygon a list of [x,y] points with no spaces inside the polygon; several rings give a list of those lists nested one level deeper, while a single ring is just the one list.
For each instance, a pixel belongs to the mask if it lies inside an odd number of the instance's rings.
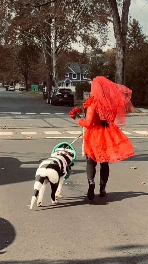
[{"label": "large spreading tree with pale trunk, left of the blue house", "polygon": [[[58,58],[72,43],[101,47],[107,41],[110,9],[105,0],[7,0],[7,32],[42,49],[53,87],[57,87]],[[98,35],[101,41],[98,41]]]}]

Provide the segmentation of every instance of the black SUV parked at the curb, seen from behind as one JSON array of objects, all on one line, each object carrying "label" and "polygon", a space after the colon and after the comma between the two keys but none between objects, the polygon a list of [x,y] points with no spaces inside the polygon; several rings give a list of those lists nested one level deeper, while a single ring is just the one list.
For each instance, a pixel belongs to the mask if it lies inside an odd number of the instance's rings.
[{"label": "black SUV parked at the curb, seen from behind", "polygon": [[52,94],[52,105],[58,104],[74,106],[74,96],[71,89],[56,89],[56,92]]}]

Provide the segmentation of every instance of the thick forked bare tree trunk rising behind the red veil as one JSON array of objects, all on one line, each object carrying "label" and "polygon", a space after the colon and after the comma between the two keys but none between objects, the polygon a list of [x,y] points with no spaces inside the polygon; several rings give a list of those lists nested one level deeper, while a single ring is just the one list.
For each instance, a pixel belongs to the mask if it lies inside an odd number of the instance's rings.
[{"label": "thick forked bare tree trunk rising behind the red veil", "polygon": [[122,15],[119,16],[116,0],[109,0],[111,13],[114,25],[114,34],[116,38],[116,82],[120,84],[126,83],[126,68],[125,68],[125,55],[126,55],[126,36],[128,28],[128,14],[131,0],[123,0]]}]

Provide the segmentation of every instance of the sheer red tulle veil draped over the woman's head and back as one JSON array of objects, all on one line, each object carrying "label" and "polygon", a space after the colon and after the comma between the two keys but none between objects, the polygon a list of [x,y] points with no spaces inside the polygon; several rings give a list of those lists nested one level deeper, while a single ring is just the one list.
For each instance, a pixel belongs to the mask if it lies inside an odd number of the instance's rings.
[{"label": "sheer red tulle veil draped over the woman's head and back", "polygon": [[91,83],[91,97],[94,97],[96,111],[101,120],[125,124],[126,115],[133,111],[130,101],[132,91],[124,85],[116,84],[103,76],[97,76]]}]

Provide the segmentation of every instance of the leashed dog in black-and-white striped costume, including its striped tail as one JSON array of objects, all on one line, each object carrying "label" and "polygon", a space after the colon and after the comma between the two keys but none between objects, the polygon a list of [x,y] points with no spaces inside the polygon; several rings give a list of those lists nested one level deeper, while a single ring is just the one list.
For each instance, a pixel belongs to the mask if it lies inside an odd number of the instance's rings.
[{"label": "leashed dog in black-and-white striped costume, including its striped tail", "polygon": [[[43,194],[48,182],[50,182],[52,189],[52,203],[57,203],[57,199],[62,197],[60,195],[62,184],[67,175],[67,167],[73,160],[73,157],[74,151],[67,148],[67,145],[62,145],[62,147],[56,149],[56,152],[49,159],[42,161],[36,172],[30,209],[32,209],[38,194],[37,206],[42,205]],[[74,163],[71,166],[73,165]],[[71,169],[71,167],[69,168]]]}]

